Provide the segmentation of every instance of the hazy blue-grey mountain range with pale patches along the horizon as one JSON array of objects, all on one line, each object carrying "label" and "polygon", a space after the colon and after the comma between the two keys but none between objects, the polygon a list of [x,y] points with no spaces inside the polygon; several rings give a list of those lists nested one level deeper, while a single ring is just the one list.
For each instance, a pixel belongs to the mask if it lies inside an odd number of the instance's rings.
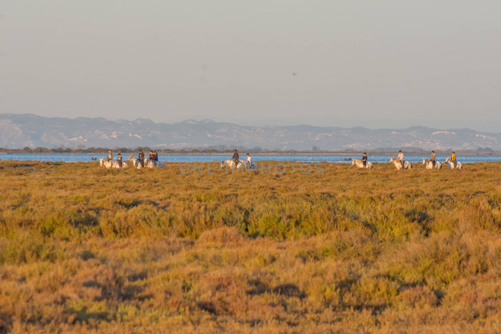
[{"label": "hazy blue-grey mountain range with pale patches along the horizon", "polygon": [[47,118],[0,114],[0,147],[225,149],[282,151],[501,151],[501,133],[470,129],[366,129],[298,126],[241,126],[211,120],[154,123],[149,119]]}]

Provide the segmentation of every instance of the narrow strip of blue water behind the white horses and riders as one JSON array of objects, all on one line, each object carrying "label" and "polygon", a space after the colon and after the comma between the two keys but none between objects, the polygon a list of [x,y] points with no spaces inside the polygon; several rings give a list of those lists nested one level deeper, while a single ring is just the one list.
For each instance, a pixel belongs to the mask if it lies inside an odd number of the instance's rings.
[{"label": "narrow strip of blue water behind the white horses and riders", "polygon": [[[130,153],[124,154],[123,159],[127,160]],[[134,156],[137,157],[137,154]],[[389,162],[392,156],[396,154],[369,154],[371,162]],[[445,158],[450,155],[437,155],[437,161],[445,161]],[[2,160],[38,160],[38,161],[92,161],[94,158],[106,158],[106,154],[0,154]],[[116,159],[117,155],[114,154]],[[253,161],[298,161],[298,162],[346,162],[345,158],[361,159],[360,154],[253,154]],[[413,163],[422,163],[423,158],[429,159],[429,154],[406,154],[405,160]],[[160,161],[166,162],[211,162],[231,159],[231,154],[161,154],[158,156]],[[241,154],[240,159],[245,159],[245,155]],[[484,162],[484,161],[501,161],[501,155],[458,155],[457,161],[461,162]]]}]

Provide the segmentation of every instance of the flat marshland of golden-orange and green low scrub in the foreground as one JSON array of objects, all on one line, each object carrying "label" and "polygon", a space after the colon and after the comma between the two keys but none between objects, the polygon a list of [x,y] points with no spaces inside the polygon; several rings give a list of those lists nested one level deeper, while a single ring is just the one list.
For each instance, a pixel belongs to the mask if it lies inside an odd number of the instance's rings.
[{"label": "flat marshland of golden-orange and green low scrub in the foreground", "polygon": [[0,162],[0,333],[501,332],[499,163],[210,166]]}]

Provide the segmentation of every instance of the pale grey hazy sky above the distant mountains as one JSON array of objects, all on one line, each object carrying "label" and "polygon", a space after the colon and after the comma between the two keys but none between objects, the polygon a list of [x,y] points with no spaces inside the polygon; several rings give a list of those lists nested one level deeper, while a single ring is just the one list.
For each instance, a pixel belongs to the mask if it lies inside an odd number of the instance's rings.
[{"label": "pale grey hazy sky above the distant mountains", "polygon": [[2,0],[0,113],[501,132],[500,18],[499,0]]}]

